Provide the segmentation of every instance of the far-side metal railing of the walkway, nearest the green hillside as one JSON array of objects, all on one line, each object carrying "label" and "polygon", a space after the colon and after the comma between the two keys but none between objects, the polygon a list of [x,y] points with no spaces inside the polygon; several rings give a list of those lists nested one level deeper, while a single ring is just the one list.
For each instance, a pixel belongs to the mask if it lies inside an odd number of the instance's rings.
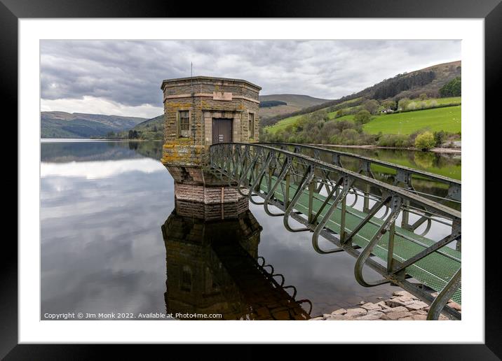
[{"label": "far-side metal railing of the walkway, nearest the green hillside", "polygon": [[340,156],[352,158],[353,160],[359,160],[360,162],[365,164],[365,166],[361,167],[361,170],[366,171],[369,176],[372,176],[371,171],[369,169],[369,165],[370,164],[377,164],[382,167],[394,169],[397,173],[396,180],[399,180],[399,182],[396,181],[395,184],[404,183],[405,187],[407,187],[407,188],[412,188],[411,178],[409,178],[410,176],[412,176],[412,175],[420,176],[420,177],[426,178],[428,180],[433,180],[435,182],[444,183],[444,184],[448,185],[449,198],[454,199],[456,201],[461,201],[462,183],[461,183],[461,180],[457,180],[454,178],[440,176],[439,174],[433,174],[428,171],[421,171],[419,169],[413,169],[410,167],[401,166],[399,164],[385,162],[383,160],[376,160],[374,158],[365,157],[363,155],[341,152],[339,150],[331,150],[331,149],[322,148],[319,146],[310,146],[310,145],[298,144],[298,143],[280,143],[280,142],[260,142],[257,144],[261,144],[264,146],[273,146],[273,147],[279,146],[283,149],[286,148],[285,150],[287,150],[287,147],[292,147],[292,148],[294,148],[294,153],[300,153],[300,154],[301,154],[301,150],[303,150],[303,149],[313,150],[316,153],[318,153],[318,152],[327,153],[327,154],[334,156],[334,164],[339,165],[341,167],[343,167],[343,164],[341,164],[341,162],[339,160]]}]

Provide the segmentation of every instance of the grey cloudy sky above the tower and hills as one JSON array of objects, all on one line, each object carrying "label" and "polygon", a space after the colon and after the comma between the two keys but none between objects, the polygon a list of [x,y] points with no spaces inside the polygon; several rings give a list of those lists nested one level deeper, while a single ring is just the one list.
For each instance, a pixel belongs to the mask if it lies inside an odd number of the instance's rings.
[{"label": "grey cloudy sky above the tower and hills", "polygon": [[337,99],[461,59],[460,41],[41,41],[41,111],[152,118],[163,79],[242,78],[260,94]]}]

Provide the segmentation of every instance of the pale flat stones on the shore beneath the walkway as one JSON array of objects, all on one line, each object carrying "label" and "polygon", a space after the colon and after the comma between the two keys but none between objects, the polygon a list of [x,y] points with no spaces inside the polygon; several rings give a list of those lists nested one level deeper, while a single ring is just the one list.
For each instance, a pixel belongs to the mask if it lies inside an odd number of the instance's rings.
[{"label": "pale flat stones on the shore beneath the walkway", "polygon": [[[437,293],[433,293],[433,296],[437,296]],[[461,306],[451,299],[448,306],[461,312]],[[428,310],[428,304],[411,293],[396,291],[393,292],[391,299],[376,303],[362,301],[358,307],[337,309],[332,313],[325,313],[323,316],[311,318],[310,320],[426,320]],[[439,319],[449,320],[443,315],[440,315]]]}]

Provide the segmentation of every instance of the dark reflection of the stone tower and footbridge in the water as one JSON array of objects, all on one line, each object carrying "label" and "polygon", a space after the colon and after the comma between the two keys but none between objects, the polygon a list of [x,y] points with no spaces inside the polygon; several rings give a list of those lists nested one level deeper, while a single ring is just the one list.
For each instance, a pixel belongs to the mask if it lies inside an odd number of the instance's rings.
[{"label": "dark reflection of the stone tower and footbridge in the water", "polygon": [[203,315],[215,313],[224,320],[310,318],[310,301],[295,299],[296,289],[258,257],[262,227],[252,213],[238,204],[222,206],[177,200],[162,225],[167,313],[198,314],[190,319],[214,319]]}]

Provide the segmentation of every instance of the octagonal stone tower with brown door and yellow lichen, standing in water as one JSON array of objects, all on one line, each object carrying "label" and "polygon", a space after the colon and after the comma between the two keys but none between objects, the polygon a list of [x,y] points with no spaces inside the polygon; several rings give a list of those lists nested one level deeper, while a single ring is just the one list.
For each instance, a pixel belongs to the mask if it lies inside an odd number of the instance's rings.
[{"label": "octagonal stone tower with brown door and yellow lichen, standing in water", "polygon": [[163,80],[162,163],[179,200],[242,202],[235,187],[207,171],[215,143],[259,141],[258,85],[247,80],[194,76]]}]

